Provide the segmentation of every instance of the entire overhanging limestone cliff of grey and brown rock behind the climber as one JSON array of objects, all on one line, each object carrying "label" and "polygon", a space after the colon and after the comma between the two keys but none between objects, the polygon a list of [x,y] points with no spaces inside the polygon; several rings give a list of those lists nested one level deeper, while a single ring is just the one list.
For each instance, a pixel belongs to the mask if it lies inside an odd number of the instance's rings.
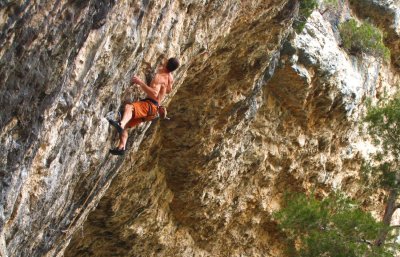
[{"label": "entire overhanging limestone cliff of grey and brown rock behind the climber", "polygon": [[[357,128],[398,83],[398,23],[374,16],[397,26],[394,65],[351,56],[337,24],[368,15],[356,4],[295,34],[295,0],[0,2],[0,255],[283,256],[271,214],[290,189],[341,189],[379,217]],[[105,116],[169,56],[171,120],[109,155]]]}]

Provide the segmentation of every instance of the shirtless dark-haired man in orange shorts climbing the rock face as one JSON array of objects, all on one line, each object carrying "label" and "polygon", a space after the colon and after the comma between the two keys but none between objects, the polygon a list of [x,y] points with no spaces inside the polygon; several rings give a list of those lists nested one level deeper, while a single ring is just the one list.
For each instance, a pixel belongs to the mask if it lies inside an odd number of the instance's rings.
[{"label": "shirtless dark-haired man in orange shorts climbing the rock face", "polygon": [[113,155],[123,155],[125,153],[125,145],[128,140],[128,128],[132,128],[143,121],[149,121],[156,117],[159,104],[164,100],[165,95],[172,90],[174,82],[171,72],[179,67],[176,58],[170,58],[158,69],[150,86],[146,85],[139,77],[133,76],[132,83],[142,89],[147,97],[139,102],[126,104],[124,114],[120,122],[108,120],[119,133],[119,145],[117,148],[111,149]]}]

